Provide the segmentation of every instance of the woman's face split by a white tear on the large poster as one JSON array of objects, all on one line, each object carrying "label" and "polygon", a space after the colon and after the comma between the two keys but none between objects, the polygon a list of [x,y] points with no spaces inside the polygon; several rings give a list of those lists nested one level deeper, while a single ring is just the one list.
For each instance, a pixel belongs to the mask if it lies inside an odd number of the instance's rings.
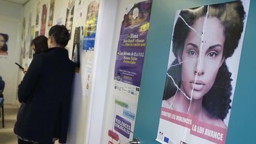
[{"label": "woman's face split by a white tear on the large poster", "polygon": [[181,90],[194,100],[199,100],[213,87],[217,72],[223,63],[223,27],[215,17],[204,17],[192,25],[185,39],[181,57]]}]

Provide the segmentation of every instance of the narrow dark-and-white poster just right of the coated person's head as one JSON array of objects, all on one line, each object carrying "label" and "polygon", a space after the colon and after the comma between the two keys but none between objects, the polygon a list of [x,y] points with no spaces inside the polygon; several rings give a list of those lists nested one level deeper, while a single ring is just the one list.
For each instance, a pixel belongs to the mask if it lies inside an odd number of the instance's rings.
[{"label": "narrow dark-and-white poster just right of the coated person's head", "polygon": [[73,50],[72,50],[72,61],[76,63],[76,72],[80,69],[80,49],[82,48],[82,36],[84,27],[75,28],[75,36],[73,40]]}]

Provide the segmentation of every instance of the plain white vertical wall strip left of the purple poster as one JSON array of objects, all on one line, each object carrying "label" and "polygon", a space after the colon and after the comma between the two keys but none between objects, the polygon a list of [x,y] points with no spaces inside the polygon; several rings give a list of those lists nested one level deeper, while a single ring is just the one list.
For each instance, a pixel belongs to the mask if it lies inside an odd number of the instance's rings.
[{"label": "plain white vertical wall strip left of the purple poster", "polygon": [[[92,99],[89,103],[89,120],[86,133],[86,143],[101,143],[101,132],[105,120],[105,101],[107,101],[108,80],[111,54],[114,52],[112,41],[116,30],[116,10],[119,0],[101,1],[99,17],[99,32],[96,47],[97,65],[95,65],[95,78],[92,85]],[[113,73],[112,73],[113,74]]]}]

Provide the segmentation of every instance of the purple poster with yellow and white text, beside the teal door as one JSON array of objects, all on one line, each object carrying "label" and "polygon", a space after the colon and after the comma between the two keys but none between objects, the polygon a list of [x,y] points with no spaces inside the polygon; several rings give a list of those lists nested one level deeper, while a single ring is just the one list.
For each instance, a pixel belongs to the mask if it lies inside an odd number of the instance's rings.
[{"label": "purple poster with yellow and white text, beside the teal door", "polygon": [[151,0],[133,5],[121,24],[114,88],[127,94],[139,95],[151,6]]}]

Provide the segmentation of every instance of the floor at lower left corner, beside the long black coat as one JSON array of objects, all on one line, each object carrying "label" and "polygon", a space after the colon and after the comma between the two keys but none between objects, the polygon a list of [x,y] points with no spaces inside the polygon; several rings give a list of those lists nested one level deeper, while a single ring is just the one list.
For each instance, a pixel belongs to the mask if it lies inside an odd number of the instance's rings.
[{"label": "floor at lower left corner, beside the long black coat", "polygon": [[0,143],[17,144],[17,137],[13,132],[13,128],[16,121],[18,107],[17,105],[4,105],[4,112],[5,128],[2,127],[2,117],[0,119]]}]

